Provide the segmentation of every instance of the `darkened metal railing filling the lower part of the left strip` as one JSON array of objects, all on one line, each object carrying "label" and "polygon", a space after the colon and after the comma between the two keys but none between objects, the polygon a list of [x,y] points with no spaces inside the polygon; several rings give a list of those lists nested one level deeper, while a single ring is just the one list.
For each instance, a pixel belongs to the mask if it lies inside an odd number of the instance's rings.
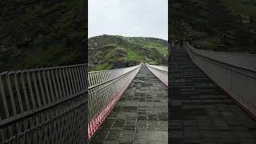
[{"label": "darkened metal railing filling the lower part of the left strip", "polygon": [[86,143],[87,65],[0,74],[1,143]]}]

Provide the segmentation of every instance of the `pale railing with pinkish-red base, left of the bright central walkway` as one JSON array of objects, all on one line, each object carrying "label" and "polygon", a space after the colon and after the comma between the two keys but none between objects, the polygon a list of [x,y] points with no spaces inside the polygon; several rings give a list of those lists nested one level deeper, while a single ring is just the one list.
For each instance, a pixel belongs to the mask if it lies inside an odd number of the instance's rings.
[{"label": "pale railing with pinkish-red base, left of the bright central walkway", "polygon": [[88,140],[134,79],[141,64],[115,70],[89,72]]}]

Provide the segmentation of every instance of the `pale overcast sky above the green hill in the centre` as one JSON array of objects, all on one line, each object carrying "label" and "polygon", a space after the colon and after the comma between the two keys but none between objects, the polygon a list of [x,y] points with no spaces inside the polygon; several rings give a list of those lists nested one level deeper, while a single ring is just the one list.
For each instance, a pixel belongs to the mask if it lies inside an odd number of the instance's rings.
[{"label": "pale overcast sky above the green hill in the centre", "polygon": [[168,39],[168,0],[89,0],[88,36]]}]

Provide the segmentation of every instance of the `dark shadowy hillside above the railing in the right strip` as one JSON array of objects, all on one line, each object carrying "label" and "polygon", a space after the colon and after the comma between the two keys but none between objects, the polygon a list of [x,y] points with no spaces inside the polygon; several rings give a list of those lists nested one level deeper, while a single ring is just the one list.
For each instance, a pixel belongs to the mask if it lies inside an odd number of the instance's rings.
[{"label": "dark shadowy hillside above the railing in the right strip", "polygon": [[255,0],[172,0],[170,39],[200,49],[256,53]]}]

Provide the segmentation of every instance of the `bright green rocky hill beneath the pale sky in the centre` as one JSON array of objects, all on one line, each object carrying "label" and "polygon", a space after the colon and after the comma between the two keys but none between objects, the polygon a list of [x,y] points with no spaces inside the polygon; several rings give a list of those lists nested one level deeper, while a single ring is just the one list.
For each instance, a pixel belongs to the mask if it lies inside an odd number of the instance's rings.
[{"label": "bright green rocky hill beneath the pale sky in the centre", "polygon": [[134,66],[140,62],[166,65],[167,41],[104,34],[89,38],[88,53],[90,70]]}]

